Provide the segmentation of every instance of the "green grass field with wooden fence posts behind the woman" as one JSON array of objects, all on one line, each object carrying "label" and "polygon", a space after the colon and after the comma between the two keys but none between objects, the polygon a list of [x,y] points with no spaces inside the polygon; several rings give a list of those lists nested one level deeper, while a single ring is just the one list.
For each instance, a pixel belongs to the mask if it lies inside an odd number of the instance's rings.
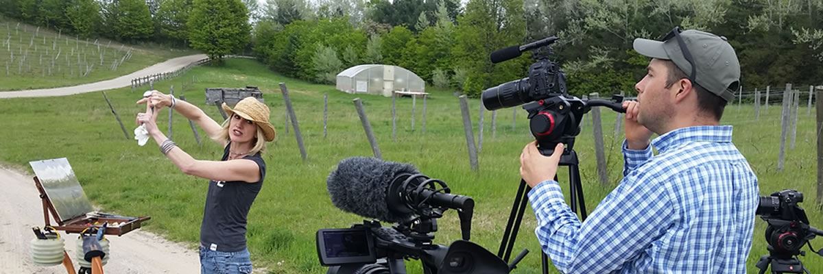
[{"label": "green grass field with wooden fence posts behind the woman", "polygon": [[[156,88],[168,91],[174,86],[180,94],[188,83],[185,95],[212,117],[219,117],[216,108],[204,104],[204,88],[259,86],[266,104],[272,109],[272,123],[279,134],[277,142],[268,146],[264,156],[268,173],[263,191],[249,213],[249,248],[258,267],[272,273],[322,273],[314,250],[314,233],[321,228],[346,228],[359,223],[362,217],[344,213],[332,206],[326,192],[325,179],[339,160],[350,156],[370,156],[370,145],[357,118],[352,100],[355,95],[335,91],[332,86],[314,85],[270,72],[253,60],[229,59],[226,67],[195,67],[183,77],[157,82]],[[300,151],[290,130],[284,126],[284,104],[278,82],[286,82],[300,121],[309,160],[300,159]],[[410,162],[433,178],[449,183],[453,193],[475,198],[477,202],[472,222],[472,240],[496,253],[503,235],[505,221],[518,187],[518,156],[523,146],[532,140],[527,119],[518,111],[512,127],[513,109],[500,110],[496,136],[492,137],[491,113],[486,112],[483,150],[479,154],[480,171],[472,172],[467,160],[465,137],[458,99],[450,91],[430,91],[427,101],[426,132],[421,133],[422,101],[417,101],[416,128],[411,128],[412,100],[398,100],[398,141],[391,139],[391,99],[360,95],[366,113],[377,135],[385,160]],[[142,91],[128,88],[107,92],[129,134],[134,128],[134,114],[141,108],[134,104]],[[323,94],[328,94],[328,137],[323,138]],[[470,102],[477,114],[477,100]],[[762,110],[762,109],[761,109]],[[814,118],[801,108],[797,127],[797,146],[786,153],[786,166],[777,171],[779,150],[779,105],[772,105],[768,114],[755,120],[751,106],[730,106],[723,123],[735,126],[734,142],[750,161],[760,179],[760,193],[768,195],[783,188],[797,188],[806,193],[805,207],[812,225],[823,227],[823,214],[813,207],[816,202],[816,135]],[[164,110],[165,112],[165,110]],[[205,179],[186,176],[176,170],[150,143],[137,146],[123,137],[108,106],[93,92],[59,98],[10,99],[0,104],[4,131],[0,131],[0,160],[25,170],[27,162],[67,157],[77,179],[92,202],[128,216],[152,217],[145,226],[168,238],[194,245],[198,242],[202,207],[207,188]],[[603,132],[606,133],[607,157],[611,183],[597,183],[591,115],[586,117],[583,132],[577,138],[584,193],[589,211],[611,191],[619,180],[622,157],[614,137],[615,114],[603,111]],[[167,127],[167,114],[160,115],[160,128]],[[477,124],[477,116],[472,118]],[[188,123],[174,116],[174,141],[198,159],[214,160],[221,148],[205,143],[198,147]],[[476,128],[477,132],[477,128]],[[202,134],[202,132],[201,132]],[[788,146],[788,145],[787,145]],[[560,174],[568,188],[565,173]],[[35,198],[35,197],[32,197]],[[40,214],[40,208],[31,208]],[[523,248],[532,251],[518,267],[517,273],[539,273],[540,259],[531,209],[523,219],[514,253]],[[435,242],[449,244],[460,238],[457,214],[447,211],[439,221]],[[748,261],[749,272],[756,273],[755,262],[767,253],[763,234],[765,222],[756,221],[754,244]],[[125,235],[128,237],[128,235]],[[814,241],[814,246],[823,246]],[[604,250],[604,252],[609,252]],[[811,272],[823,271],[823,259],[816,255],[802,258]],[[408,262],[409,272],[419,273],[417,262]]]}]

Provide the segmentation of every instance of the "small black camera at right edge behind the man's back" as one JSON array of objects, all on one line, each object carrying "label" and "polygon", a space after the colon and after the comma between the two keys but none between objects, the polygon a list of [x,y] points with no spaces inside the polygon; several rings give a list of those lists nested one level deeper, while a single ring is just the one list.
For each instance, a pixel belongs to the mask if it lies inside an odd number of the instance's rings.
[{"label": "small black camera at right edge behind the man's back", "polygon": [[802,262],[797,258],[797,255],[806,255],[800,250],[804,244],[808,244],[812,252],[823,256],[823,250],[815,251],[809,242],[816,235],[823,235],[823,231],[809,225],[806,211],[797,205],[799,202],[803,202],[803,193],[793,189],[760,197],[756,214],[769,224],[765,238],[770,253],[760,257],[760,262],[756,264],[760,268],[760,274],[765,273],[770,265],[772,273],[805,272]]}]

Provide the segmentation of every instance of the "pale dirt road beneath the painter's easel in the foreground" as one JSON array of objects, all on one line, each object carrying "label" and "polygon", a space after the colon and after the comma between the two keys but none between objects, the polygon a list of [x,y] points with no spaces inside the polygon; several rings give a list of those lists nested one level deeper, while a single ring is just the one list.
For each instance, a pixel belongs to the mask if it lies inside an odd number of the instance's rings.
[{"label": "pale dirt road beneath the painter's easel in the foreground", "polygon": [[[61,266],[38,267],[29,257],[29,241],[35,238],[32,226],[44,225],[43,210],[32,175],[0,167],[0,272],[64,274]],[[66,250],[74,254],[77,235],[66,238]],[[106,273],[199,273],[200,259],[195,250],[169,242],[157,235],[137,230],[111,241]],[[75,268],[77,259],[72,258]]]}]

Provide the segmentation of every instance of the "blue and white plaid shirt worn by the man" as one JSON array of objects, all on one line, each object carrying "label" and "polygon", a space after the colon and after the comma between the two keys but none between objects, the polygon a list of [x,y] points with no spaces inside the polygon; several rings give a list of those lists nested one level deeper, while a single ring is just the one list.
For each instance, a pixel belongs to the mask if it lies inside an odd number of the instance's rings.
[{"label": "blue and white plaid shirt worn by the man", "polygon": [[548,180],[529,193],[537,239],[564,273],[745,273],[757,178],[731,126],[680,128],[644,151],[581,223]]}]

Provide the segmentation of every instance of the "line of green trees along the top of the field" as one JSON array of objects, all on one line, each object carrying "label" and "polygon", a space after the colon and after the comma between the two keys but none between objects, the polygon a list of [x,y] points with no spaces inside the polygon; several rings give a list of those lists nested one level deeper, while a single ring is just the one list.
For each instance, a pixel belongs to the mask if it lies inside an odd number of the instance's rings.
[{"label": "line of green trees along the top of the field", "polygon": [[392,64],[469,95],[527,76],[530,58],[492,64],[495,49],[551,35],[574,95],[631,95],[648,63],[633,40],[674,26],[727,37],[744,89],[819,85],[821,11],[823,0],[0,0],[7,16],[81,36],[250,52],[326,83],[346,67]]}]

